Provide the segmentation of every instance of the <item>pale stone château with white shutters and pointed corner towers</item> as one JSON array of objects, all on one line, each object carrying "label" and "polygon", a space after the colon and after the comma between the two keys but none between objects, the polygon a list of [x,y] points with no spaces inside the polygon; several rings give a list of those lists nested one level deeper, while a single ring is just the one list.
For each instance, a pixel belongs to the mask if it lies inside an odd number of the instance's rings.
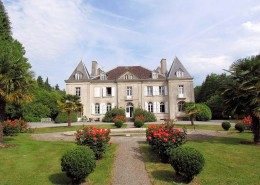
[{"label": "pale stone ch\u00e2teau with white shutters and pointed corner towers", "polygon": [[101,120],[114,107],[133,116],[134,108],[153,112],[157,120],[180,119],[184,102],[194,101],[193,78],[176,57],[167,70],[166,59],[149,70],[142,66],[118,66],[110,71],[92,62],[91,74],[81,61],[66,82],[66,93],[78,95],[82,115]]}]

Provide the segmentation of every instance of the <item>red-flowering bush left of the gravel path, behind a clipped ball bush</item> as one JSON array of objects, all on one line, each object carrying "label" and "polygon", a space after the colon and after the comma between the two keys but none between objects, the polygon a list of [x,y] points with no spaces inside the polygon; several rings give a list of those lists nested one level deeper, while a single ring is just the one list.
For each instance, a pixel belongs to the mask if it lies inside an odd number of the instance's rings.
[{"label": "red-flowering bush left of the gravel path, behind a clipped ball bush", "polygon": [[110,129],[86,126],[76,132],[76,141],[78,145],[89,146],[94,151],[96,159],[101,159],[110,140],[109,133]]}]

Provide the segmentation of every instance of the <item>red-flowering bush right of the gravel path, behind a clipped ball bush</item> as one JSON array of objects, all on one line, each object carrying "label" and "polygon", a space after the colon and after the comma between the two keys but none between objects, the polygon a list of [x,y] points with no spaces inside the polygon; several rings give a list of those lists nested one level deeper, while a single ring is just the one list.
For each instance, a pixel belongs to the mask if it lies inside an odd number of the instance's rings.
[{"label": "red-flowering bush right of the gravel path, behind a clipped ball bush", "polygon": [[146,131],[146,138],[163,162],[168,162],[171,149],[182,145],[186,141],[186,132],[174,125],[150,125]]}]

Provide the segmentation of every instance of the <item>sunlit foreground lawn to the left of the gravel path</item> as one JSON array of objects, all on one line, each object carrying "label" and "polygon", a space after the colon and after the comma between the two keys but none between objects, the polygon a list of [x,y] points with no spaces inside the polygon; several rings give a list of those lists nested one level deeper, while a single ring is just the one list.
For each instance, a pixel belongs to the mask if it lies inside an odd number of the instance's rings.
[{"label": "sunlit foreground lawn to the left of the gravel path", "polygon": [[[70,184],[61,172],[60,158],[66,150],[76,146],[73,142],[34,141],[29,134],[6,137],[6,143],[15,147],[0,149],[0,184]],[[112,144],[86,184],[110,184],[116,145]]]}]

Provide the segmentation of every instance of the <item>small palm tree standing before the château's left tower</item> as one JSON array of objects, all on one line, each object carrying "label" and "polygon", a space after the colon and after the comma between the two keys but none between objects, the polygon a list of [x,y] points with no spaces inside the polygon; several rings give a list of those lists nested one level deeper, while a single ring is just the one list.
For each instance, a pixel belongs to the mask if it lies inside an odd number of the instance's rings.
[{"label": "small palm tree standing before the ch\u00e2teau's left tower", "polygon": [[60,110],[68,114],[68,127],[71,126],[71,113],[81,111],[80,98],[75,95],[66,95],[63,101],[59,102]]}]

